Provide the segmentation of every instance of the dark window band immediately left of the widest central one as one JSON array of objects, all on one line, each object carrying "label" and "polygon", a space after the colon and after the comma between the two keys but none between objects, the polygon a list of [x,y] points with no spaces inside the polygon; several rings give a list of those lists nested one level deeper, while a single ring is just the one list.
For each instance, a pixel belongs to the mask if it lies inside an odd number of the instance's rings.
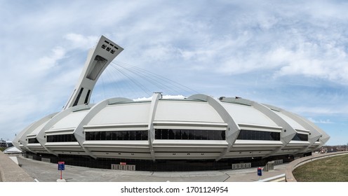
[{"label": "dark window band immediately left of the widest central one", "polygon": [[86,132],[87,140],[147,140],[148,131]]}]

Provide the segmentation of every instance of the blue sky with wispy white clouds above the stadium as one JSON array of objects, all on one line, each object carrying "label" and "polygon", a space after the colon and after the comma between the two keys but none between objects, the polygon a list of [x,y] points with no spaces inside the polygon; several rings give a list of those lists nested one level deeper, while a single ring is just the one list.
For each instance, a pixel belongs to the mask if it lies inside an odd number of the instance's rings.
[{"label": "blue sky with wispy white clouds above the stadium", "polygon": [[[0,138],[62,111],[104,35],[125,49],[113,64],[151,71],[191,94],[286,109],[321,127],[326,144],[348,144],[347,10],[347,1],[334,0],[0,0]],[[116,72],[107,68],[91,102],[151,96]]]}]

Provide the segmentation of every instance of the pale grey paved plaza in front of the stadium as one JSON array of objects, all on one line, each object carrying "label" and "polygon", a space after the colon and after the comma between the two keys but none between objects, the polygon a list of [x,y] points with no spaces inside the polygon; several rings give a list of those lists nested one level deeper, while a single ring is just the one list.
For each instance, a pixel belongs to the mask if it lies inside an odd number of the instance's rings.
[{"label": "pale grey paved plaza in front of the stadium", "polygon": [[[18,156],[22,169],[40,182],[60,179],[58,164],[40,162]],[[276,165],[274,170],[257,176],[257,168],[202,172],[143,172],[96,169],[65,165],[62,179],[67,182],[255,182],[285,173],[287,164]]]}]

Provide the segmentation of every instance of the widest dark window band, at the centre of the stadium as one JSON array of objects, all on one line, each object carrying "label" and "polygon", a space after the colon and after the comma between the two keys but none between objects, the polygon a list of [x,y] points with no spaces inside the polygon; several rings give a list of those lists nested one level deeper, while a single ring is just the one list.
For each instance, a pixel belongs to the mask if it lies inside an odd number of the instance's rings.
[{"label": "widest dark window band, at the centre of the stadium", "polygon": [[154,139],[193,139],[193,140],[225,140],[225,131],[221,130],[167,130],[158,129]]}]

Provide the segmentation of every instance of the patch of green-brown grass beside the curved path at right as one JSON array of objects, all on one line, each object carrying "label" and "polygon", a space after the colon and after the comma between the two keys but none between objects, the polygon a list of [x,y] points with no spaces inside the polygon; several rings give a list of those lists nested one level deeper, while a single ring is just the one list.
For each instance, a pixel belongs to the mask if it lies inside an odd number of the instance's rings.
[{"label": "patch of green-brown grass beside the curved path at right", "polygon": [[348,155],[323,158],[297,167],[298,182],[348,182]]}]

